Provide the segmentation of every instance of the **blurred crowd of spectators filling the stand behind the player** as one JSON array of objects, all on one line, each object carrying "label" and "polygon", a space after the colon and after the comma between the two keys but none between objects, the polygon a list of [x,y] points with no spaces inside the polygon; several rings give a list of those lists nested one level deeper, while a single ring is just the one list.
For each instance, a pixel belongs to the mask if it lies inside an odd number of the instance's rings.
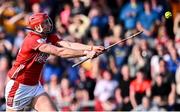
[{"label": "blurred crowd of spectators filling the stand behind the player", "polygon": [[88,45],[143,31],[74,68],[84,57],[50,56],[41,82],[60,110],[180,110],[179,7],[179,0],[0,0],[0,110],[7,71],[36,12],[49,14],[62,39]]}]

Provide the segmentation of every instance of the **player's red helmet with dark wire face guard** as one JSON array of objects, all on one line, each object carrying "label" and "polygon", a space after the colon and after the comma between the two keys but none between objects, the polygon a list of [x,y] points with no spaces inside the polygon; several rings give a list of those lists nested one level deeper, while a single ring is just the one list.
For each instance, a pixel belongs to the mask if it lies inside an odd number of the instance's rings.
[{"label": "player's red helmet with dark wire face guard", "polygon": [[36,13],[29,18],[31,29],[41,34],[48,34],[53,31],[53,23],[46,13]]}]

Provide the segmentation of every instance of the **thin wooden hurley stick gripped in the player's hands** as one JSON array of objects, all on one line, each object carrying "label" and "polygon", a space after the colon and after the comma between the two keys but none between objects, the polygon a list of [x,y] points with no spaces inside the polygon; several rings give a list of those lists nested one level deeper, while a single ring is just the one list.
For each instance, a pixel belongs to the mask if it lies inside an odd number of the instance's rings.
[{"label": "thin wooden hurley stick gripped in the player's hands", "polygon": [[[135,33],[135,34],[133,34],[133,35],[125,38],[125,39],[122,39],[122,40],[120,40],[120,41],[118,41],[118,42],[116,42],[116,43],[114,43],[114,44],[112,44],[112,45],[110,45],[110,46],[107,46],[107,47],[104,49],[103,53],[106,52],[108,49],[111,49],[112,47],[114,47],[115,45],[117,45],[117,44],[119,44],[119,43],[125,42],[125,41],[128,40],[128,39],[131,39],[131,38],[134,38],[134,37],[140,35],[142,32],[143,32],[143,31],[139,31],[139,32],[137,32],[137,33]],[[103,53],[101,53],[101,54],[103,54]],[[101,54],[98,54],[97,56],[99,56],[99,55],[101,55]],[[97,56],[96,56],[96,57],[97,57]],[[75,63],[74,65],[72,65],[72,67],[76,67],[76,66],[84,63],[85,61],[89,60],[89,59],[91,59],[91,58],[85,58],[85,59],[79,61],[78,63]]]}]

